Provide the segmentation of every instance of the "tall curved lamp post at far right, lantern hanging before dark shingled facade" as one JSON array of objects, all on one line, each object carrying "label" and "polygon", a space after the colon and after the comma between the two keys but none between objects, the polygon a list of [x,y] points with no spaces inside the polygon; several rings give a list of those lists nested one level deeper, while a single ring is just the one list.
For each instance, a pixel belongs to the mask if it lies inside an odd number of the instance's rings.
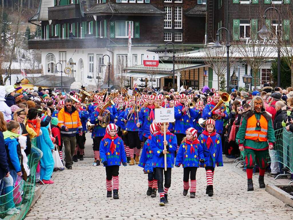
[{"label": "tall curved lamp post at far right, lantern hanging before dark shingled facade", "polygon": [[[281,14],[280,11],[274,7],[270,7],[265,9],[265,12],[263,13],[263,19],[265,20],[267,18],[266,13],[268,10],[275,10],[278,14],[278,28],[277,28],[277,41],[280,42],[280,36],[281,36],[281,26],[280,26],[280,22],[281,22]],[[260,31],[257,32],[258,36],[260,36],[260,38],[262,38],[263,40],[268,39],[270,37],[270,31],[268,30],[267,26],[264,24],[263,27],[260,29]],[[281,49],[280,49],[280,45],[278,46],[278,60],[277,60],[277,85],[278,87],[281,87]]]}]

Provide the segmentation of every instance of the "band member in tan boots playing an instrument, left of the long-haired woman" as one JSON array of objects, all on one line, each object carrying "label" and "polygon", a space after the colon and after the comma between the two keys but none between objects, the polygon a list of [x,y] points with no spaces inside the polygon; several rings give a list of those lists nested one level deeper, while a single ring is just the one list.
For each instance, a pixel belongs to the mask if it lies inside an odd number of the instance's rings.
[{"label": "band member in tan boots playing an instrument, left of the long-haired woman", "polygon": [[134,111],[135,107],[135,96],[132,97],[132,107],[127,108],[125,110],[124,119],[127,121],[125,130],[128,131],[128,142],[129,142],[129,153],[130,153],[130,163],[129,165],[134,165],[134,149],[135,151],[135,163],[139,164],[139,154],[141,149],[140,139],[138,135],[139,126],[137,124],[139,123],[138,120],[138,113]]}]

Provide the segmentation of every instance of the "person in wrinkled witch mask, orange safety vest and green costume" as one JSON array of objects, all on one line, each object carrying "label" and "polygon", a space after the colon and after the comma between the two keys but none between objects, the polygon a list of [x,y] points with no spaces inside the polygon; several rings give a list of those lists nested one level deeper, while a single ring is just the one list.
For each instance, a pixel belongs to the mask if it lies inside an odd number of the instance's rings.
[{"label": "person in wrinkled witch mask, orange safety vest and green costume", "polygon": [[253,191],[252,170],[255,163],[259,166],[259,187],[265,188],[264,175],[268,166],[266,157],[268,149],[272,150],[276,141],[272,118],[265,111],[263,99],[255,96],[250,104],[251,110],[243,114],[236,135],[239,150],[244,150],[246,155],[247,191]]}]

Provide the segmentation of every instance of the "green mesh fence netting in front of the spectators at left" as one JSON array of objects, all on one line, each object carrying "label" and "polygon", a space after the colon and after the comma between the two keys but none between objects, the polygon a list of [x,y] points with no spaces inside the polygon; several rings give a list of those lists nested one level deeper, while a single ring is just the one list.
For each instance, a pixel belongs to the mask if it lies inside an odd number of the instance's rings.
[{"label": "green mesh fence netting in front of the spectators at left", "polygon": [[[25,215],[30,209],[33,201],[36,186],[36,169],[38,162],[42,157],[42,151],[35,146],[35,141],[32,140],[31,153],[28,155],[28,167],[30,168],[30,175],[27,181],[23,179],[13,189],[13,192],[0,196],[0,219],[17,219],[25,218]],[[2,192],[4,189],[2,189]],[[11,197],[13,194],[13,197]],[[8,215],[11,207],[15,206],[20,212],[18,214]]]}]

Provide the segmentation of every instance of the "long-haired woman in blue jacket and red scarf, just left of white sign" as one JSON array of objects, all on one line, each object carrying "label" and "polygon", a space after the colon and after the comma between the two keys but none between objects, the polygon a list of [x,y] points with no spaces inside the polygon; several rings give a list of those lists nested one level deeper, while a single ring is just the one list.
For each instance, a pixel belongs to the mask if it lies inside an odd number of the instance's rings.
[{"label": "long-haired woman in blue jacket and red scarf, just left of white sign", "polygon": [[160,108],[160,106],[155,102],[155,96],[149,95],[148,102],[144,103],[142,109],[139,112],[139,122],[137,127],[140,127],[141,134],[140,140],[146,142],[147,138],[151,134],[149,131],[149,126],[155,119],[155,108]]}]

